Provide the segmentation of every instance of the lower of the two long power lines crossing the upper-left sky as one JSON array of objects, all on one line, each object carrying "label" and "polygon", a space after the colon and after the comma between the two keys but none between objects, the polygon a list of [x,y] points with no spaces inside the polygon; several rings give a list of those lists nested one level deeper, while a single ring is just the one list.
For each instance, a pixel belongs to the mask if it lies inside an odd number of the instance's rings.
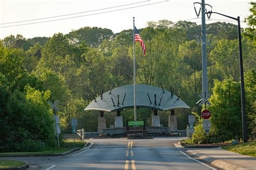
[{"label": "lower of the two long power lines crossing the upper-left sky", "polygon": [[79,17],[92,16],[92,15],[99,15],[99,14],[102,14],[102,13],[110,13],[110,12],[115,12],[115,11],[122,11],[122,10],[126,10],[126,9],[139,8],[139,7],[142,7],[142,6],[148,6],[148,5],[153,5],[153,4],[164,3],[164,2],[167,2],[167,1],[169,1],[169,0],[161,1],[161,2],[155,2],[155,3],[150,3],[150,4],[145,4],[145,5],[132,6],[132,7],[129,7],[129,8],[123,8],[123,9],[117,9],[117,10],[111,10],[111,11],[98,12],[98,13],[91,13],[91,14],[82,15],[82,16],[75,16],[75,17],[68,17],[68,18],[60,18],[60,19],[52,19],[52,20],[49,20],[49,21],[41,21],[41,22],[26,23],[26,24],[17,24],[17,25],[9,25],[9,26],[0,26],[0,28],[9,28],[9,27],[14,27],[14,26],[39,24],[39,23],[46,23],[46,22],[53,22],[53,21],[61,21],[61,20],[65,20],[65,19],[72,19],[72,18],[79,18]]}]

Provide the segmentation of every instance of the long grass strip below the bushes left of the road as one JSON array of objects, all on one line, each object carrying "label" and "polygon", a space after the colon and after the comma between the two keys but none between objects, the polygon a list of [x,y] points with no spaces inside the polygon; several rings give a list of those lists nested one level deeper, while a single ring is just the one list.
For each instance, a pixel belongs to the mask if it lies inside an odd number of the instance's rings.
[{"label": "long grass strip below the bushes left of the road", "polygon": [[75,145],[73,141],[63,141],[63,145],[60,148],[50,148],[40,152],[5,152],[0,153],[2,157],[14,156],[14,155],[46,155],[46,154],[59,154],[66,151],[70,151],[73,148],[83,148],[86,141],[76,141]]}]

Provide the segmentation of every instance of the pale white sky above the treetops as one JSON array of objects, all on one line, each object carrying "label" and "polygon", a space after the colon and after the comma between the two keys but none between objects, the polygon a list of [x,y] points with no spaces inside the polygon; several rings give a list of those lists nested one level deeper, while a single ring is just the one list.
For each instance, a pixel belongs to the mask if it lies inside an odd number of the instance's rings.
[{"label": "pale white sky above the treetops", "polygon": [[[190,19],[187,21],[201,24],[201,19],[197,18],[194,11],[194,2],[201,2],[201,0],[0,0],[0,38],[3,39],[6,36],[17,34],[21,34],[25,38],[51,37],[54,33],[62,32],[66,34],[84,26],[107,28],[117,33],[125,29],[132,29],[133,17],[135,17],[137,29],[145,28],[149,21],[157,22],[162,19],[172,22]],[[250,15],[250,2],[248,0],[205,0],[206,4],[212,6],[212,11],[235,18],[240,16],[241,27],[243,28],[247,25],[242,21]],[[199,10],[200,6],[196,4],[196,8]],[[207,10],[210,9],[210,6],[208,6]],[[71,13],[78,14],[69,15]],[[68,16],[54,17],[60,15]],[[19,22],[31,19],[38,20]],[[54,19],[62,20],[47,22]],[[214,19],[214,21],[206,20],[206,24],[228,18],[212,14],[211,19]],[[13,26],[35,22],[43,23]],[[231,23],[237,24],[236,21]]]}]

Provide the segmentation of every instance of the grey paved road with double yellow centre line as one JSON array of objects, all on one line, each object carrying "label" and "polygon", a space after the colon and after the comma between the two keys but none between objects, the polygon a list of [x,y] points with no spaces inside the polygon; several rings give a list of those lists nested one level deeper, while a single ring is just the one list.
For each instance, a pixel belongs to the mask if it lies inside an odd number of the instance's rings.
[{"label": "grey paved road with double yellow centre line", "polygon": [[[92,139],[91,149],[39,161],[40,169],[213,169],[173,146],[180,138]],[[27,158],[28,159],[28,158]],[[31,166],[30,169],[39,169]]]}]

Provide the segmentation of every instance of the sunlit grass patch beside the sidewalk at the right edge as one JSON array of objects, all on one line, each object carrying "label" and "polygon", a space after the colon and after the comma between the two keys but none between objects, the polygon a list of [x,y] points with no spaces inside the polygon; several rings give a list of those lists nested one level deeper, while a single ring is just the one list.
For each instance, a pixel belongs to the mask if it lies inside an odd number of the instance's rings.
[{"label": "sunlit grass patch beside the sidewalk at the right edge", "polygon": [[237,144],[237,145],[224,146],[222,148],[228,151],[237,152],[243,155],[256,157],[256,140]]}]

